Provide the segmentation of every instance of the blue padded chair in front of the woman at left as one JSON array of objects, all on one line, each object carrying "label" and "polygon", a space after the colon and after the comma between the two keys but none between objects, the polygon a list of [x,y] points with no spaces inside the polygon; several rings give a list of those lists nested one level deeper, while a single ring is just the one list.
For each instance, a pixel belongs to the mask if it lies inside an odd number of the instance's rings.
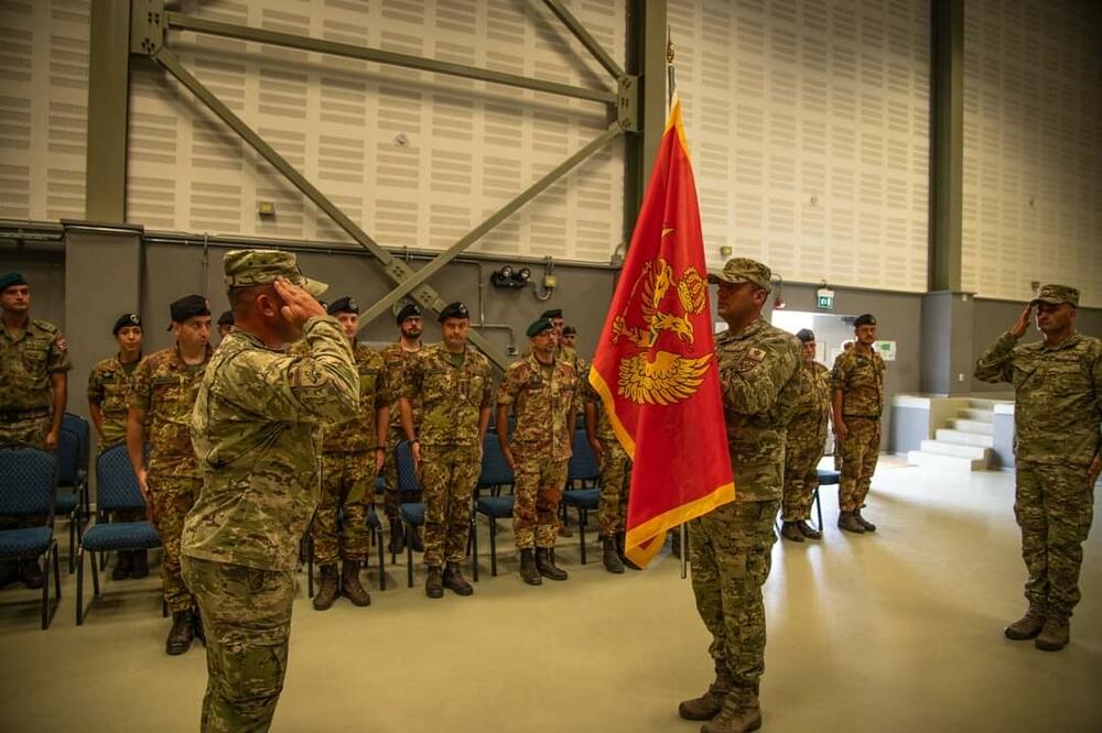
[{"label": "blue padded chair in front of the woman at left", "polygon": [[[96,553],[118,553],[152,549],[161,546],[161,538],[149,522],[110,522],[111,512],[144,510],[145,500],[138,488],[126,446],[105,450],[96,459],[96,524],[80,538],[76,560],[76,624],[84,623],[84,554],[91,565],[94,599],[99,598],[99,568]],[[89,604],[89,610],[91,609]],[[162,604],[162,615],[166,613]]]}]

